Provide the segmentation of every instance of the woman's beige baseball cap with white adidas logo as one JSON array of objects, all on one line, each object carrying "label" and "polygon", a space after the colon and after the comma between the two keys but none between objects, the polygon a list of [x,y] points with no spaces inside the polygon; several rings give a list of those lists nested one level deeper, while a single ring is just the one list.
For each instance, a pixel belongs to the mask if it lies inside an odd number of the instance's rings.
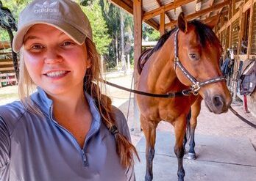
[{"label": "woman's beige baseball cap with white adidas logo", "polygon": [[20,51],[24,35],[31,26],[38,23],[60,29],[79,45],[85,42],[86,37],[93,41],[90,22],[79,4],[71,0],[34,0],[19,15],[13,51]]}]

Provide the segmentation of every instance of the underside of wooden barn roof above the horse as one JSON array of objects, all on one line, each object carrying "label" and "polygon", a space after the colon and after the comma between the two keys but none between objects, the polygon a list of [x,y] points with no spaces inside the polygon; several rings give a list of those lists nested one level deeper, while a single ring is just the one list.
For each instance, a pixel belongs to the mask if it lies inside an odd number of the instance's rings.
[{"label": "underside of wooden barn roof above the horse", "polygon": [[[133,15],[133,0],[109,0]],[[235,7],[243,0],[235,0]],[[179,12],[188,20],[210,21],[218,15],[228,15],[231,0],[143,0],[143,21],[154,29],[160,29],[160,14],[165,13],[165,29],[177,23]]]}]

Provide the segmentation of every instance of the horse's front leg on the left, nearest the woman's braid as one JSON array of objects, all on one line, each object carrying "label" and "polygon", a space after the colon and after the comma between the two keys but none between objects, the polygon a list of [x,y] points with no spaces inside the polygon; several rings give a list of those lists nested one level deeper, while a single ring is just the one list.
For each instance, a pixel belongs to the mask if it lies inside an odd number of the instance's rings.
[{"label": "horse's front leg on the left, nearest the woman's braid", "polygon": [[153,180],[153,158],[157,123],[141,115],[141,127],[146,138],[146,175],[145,181]]}]

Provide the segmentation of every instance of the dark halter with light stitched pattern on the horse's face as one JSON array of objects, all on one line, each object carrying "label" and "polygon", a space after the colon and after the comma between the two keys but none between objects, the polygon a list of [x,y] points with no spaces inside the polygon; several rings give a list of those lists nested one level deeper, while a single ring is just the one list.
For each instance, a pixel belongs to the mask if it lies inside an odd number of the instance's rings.
[{"label": "dark halter with light stitched pattern on the horse's face", "polygon": [[179,61],[179,56],[178,56],[178,34],[179,29],[177,32],[175,32],[175,37],[174,37],[174,70],[176,70],[176,67],[178,66],[180,70],[182,70],[182,73],[188,78],[189,81],[191,81],[191,91],[189,92],[182,92],[183,95],[189,95],[189,93],[193,93],[193,95],[198,95],[198,91],[202,86],[206,86],[207,84],[213,84],[219,81],[226,81],[225,76],[219,76],[216,78],[211,78],[207,81],[199,82],[196,80],[196,78],[193,77],[190,73],[188,73],[188,70],[185,69],[185,67],[182,65],[182,63]]}]

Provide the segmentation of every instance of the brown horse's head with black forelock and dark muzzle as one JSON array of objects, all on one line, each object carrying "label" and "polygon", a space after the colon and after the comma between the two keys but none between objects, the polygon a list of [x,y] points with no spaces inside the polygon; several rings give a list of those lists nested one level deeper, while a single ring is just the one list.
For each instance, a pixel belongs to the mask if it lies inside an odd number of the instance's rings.
[{"label": "brown horse's head with black forelock and dark muzzle", "polygon": [[[188,22],[183,14],[178,18],[179,61],[188,73],[201,83],[223,76],[219,65],[222,48],[216,34],[212,31],[212,24],[214,23],[205,25],[199,21]],[[182,84],[192,85],[180,68],[176,68],[176,73]],[[199,94],[210,111],[215,114],[226,112],[232,100],[225,81],[205,84],[199,88]]]}]

